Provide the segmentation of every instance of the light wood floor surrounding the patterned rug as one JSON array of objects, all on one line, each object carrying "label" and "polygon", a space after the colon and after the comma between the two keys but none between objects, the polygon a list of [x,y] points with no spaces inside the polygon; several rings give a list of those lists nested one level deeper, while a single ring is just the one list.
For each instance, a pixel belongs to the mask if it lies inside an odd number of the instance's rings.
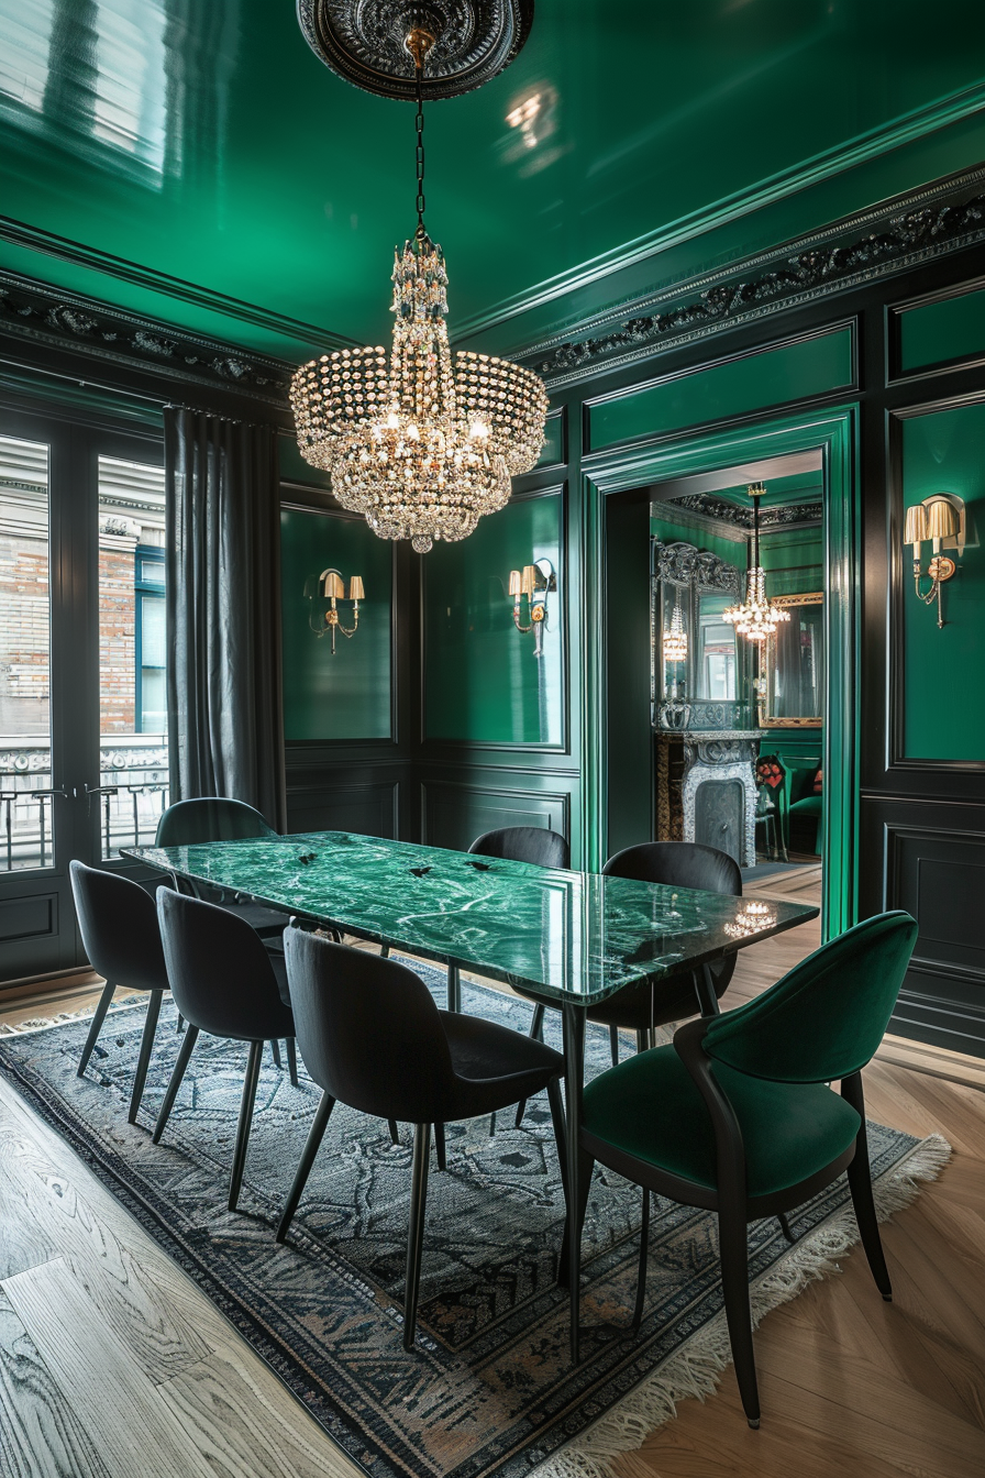
[{"label": "light wood floor surrounding the patterned rug", "polygon": [[[817,871],[817,869],[815,869]],[[762,879],[808,899],[817,878]],[[753,891],[749,888],[747,891]],[[728,1001],[817,944],[812,925],[743,950]],[[815,928],[815,927],[814,927]],[[97,989],[0,1014],[75,1011]],[[905,1043],[905,1046],[913,1046]],[[886,1055],[889,1051],[889,1055]],[[619,1478],[982,1478],[985,1094],[975,1060],[893,1048],[865,1073],[873,1117],[939,1131],[954,1160],[885,1228],[895,1301],[864,1255],[769,1314],[756,1336],[763,1423],[731,1370],[712,1400],[616,1462]],[[356,1469],[99,1181],[0,1083],[3,1478],[356,1478]]]}]

